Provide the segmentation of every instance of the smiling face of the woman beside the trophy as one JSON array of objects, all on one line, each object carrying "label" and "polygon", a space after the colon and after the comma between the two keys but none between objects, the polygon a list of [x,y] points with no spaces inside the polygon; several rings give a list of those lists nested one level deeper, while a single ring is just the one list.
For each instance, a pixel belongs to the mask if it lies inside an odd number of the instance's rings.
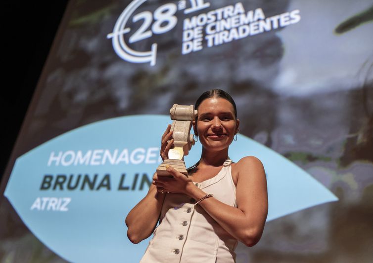
[{"label": "smiling face of the woman beside the trophy", "polygon": [[232,143],[238,124],[233,105],[226,99],[212,97],[199,105],[197,123],[193,127],[205,149],[223,150]]}]

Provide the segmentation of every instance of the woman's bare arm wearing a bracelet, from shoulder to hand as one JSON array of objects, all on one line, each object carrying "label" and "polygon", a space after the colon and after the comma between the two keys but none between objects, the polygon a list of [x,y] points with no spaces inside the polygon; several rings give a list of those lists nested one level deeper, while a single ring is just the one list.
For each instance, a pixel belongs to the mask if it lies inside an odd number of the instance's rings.
[{"label": "woman's bare arm wearing a bracelet, from shoulder to hand", "polygon": [[[167,168],[177,184],[167,179],[165,183],[156,182],[170,192],[184,192],[195,200],[208,194],[194,186],[190,178]],[[262,236],[268,212],[267,182],[261,161],[253,156],[239,160],[234,169],[238,173],[236,186],[237,208],[211,197],[199,202],[200,205],[219,225],[246,246],[255,245]]]}]

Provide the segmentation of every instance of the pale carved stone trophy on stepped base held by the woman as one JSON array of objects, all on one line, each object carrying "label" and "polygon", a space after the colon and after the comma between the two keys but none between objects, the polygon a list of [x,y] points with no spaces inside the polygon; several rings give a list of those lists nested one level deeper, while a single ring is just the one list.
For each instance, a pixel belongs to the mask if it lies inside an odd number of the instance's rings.
[{"label": "pale carved stone trophy on stepped base held by the woman", "polygon": [[174,147],[168,151],[168,159],[164,160],[157,168],[158,176],[170,176],[166,171],[166,165],[171,165],[175,170],[187,175],[184,156],[188,155],[194,145],[194,135],[190,134],[192,121],[197,116],[197,110],[193,105],[174,104],[170,110],[171,131],[174,139]]}]

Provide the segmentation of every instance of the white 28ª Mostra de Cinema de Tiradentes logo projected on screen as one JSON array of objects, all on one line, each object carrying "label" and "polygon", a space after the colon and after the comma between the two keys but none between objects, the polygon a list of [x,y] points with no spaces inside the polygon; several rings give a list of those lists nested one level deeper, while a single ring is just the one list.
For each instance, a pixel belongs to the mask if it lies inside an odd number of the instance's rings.
[{"label": "white 28\u00aa Mostra de Cinema de Tiradentes logo projected on screen", "polygon": [[[266,17],[262,8],[246,11],[241,2],[204,12],[204,9],[210,7],[210,2],[204,0],[179,0],[178,4],[166,3],[154,11],[136,13],[145,1],[132,1],[119,16],[113,32],[108,34],[107,38],[112,39],[115,52],[123,60],[132,63],[150,63],[151,66],[156,64],[157,43],[151,44],[148,51],[134,50],[130,45],[151,38],[153,35],[162,35],[171,31],[182,16],[192,14],[183,19],[181,47],[183,55],[300,21],[300,11],[297,9]],[[142,21],[142,24],[134,31],[131,27],[138,21]],[[128,42],[125,35],[130,35]]]}]

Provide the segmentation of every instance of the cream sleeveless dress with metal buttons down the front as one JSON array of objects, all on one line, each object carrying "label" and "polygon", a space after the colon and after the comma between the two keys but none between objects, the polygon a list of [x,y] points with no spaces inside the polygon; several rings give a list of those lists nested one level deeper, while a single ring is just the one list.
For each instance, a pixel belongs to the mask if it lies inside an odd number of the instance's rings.
[{"label": "cream sleeveless dress with metal buttons down the front", "polygon": [[[226,160],[215,177],[195,185],[236,207],[231,163]],[[140,263],[235,262],[237,240],[194,203],[184,194],[166,194],[160,224]]]}]

